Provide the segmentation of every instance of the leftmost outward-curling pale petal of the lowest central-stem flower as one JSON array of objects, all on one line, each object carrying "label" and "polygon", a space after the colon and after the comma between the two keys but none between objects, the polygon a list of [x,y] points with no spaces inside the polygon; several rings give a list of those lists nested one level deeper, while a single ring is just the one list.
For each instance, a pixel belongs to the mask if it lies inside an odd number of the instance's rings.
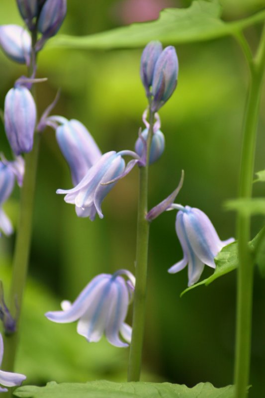
[{"label": "leftmost outward-curling pale petal of the lowest central-stem flower", "polygon": [[91,305],[91,302],[93,302],[93,299],[101,293],[102,287],[108,283],[110,278],[111,275],[108,274],[97,275],[81,292],[81,294],[68,310],[50,311],[47,312],[45,316],[57,323],[76,321],[85,314],[85,312],[88,310],[88,307]]}]

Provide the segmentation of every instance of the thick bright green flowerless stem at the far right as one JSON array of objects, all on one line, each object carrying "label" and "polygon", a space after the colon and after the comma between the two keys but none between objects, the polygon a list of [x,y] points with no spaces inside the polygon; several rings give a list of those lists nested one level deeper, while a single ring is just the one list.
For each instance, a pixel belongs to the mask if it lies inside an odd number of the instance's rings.
[{"label": "thick bright green flowerless stem at the far right", "polygon": [[[245,51],[244,48],[243,51]],[[239,182],[240,198],[252,197],[257,124],[265,66],[265,32],[261,38],[258,57],[253,61],[251,61],[249,57],[247,57],[247,59],[250,66],[251,79],[245,112],[245,127]],[[254,274],[254,259],[248,246],[248,242],[251,239],[250,226],[250,216],[238,213],[237,237],[239,268],[237,273],[236,354],[234,374],[234,382],[236,386],[235,398],[247,397],[250,374]]]}]

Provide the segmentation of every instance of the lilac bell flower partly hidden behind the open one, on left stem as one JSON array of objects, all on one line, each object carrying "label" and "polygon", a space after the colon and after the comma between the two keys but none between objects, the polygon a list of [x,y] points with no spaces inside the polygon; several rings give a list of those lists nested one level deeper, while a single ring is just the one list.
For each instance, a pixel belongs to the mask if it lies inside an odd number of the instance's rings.
[{"label": "lilac bell flower partly hidden behind the open one, on left stem", "polygon": [[[52,116],[50,119],[55,118]],[[73,185],[76,186],[101,158],[101,152],[84,124],[75,119],[65,119],[56,128],[56,139],[70,167]]]}]

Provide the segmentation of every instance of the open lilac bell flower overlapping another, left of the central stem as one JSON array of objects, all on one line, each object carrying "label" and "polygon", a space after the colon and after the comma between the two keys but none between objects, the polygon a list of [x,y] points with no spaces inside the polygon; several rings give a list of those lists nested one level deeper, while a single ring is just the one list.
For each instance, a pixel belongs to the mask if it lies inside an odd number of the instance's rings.
[{"label": "open lilac bell flower overlapping another, left of the central stem", "polygon": [[[131,155],[136,159],[131,160],[125,167],[122,155]],[[57,190],[57,194],[65,194],[65,201],[76,205],[79,217],[95,219],[96,213],[103,218],[101,203],[116,182],[128,174],[139,156],[131,151],[107,152],[88,170],[80,183],[70,190]]]}]

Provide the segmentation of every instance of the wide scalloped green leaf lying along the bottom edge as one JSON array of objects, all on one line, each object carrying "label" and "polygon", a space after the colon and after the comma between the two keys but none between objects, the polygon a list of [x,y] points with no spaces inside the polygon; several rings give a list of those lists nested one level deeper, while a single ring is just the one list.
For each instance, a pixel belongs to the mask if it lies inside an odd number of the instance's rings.
[{"label": "wide scalloped green leaf lying along the bottom edge", "polygon": [[45,387],[25,386],[13,393],[21,398],[233,398],[234,386],[215,388],[199,383],[193,388],[171,383],[113,383],[107,381],[86,384],[48,383]]}]

